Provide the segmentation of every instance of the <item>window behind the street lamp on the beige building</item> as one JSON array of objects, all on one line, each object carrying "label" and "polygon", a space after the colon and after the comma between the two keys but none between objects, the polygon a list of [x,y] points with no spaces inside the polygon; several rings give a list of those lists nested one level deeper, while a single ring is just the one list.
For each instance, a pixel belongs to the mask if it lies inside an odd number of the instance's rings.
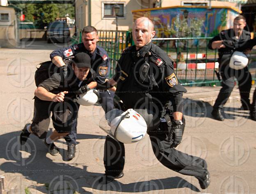
[{"label": "window behind the street lamp on the beige building", "polygon": [[[114,13],[114,4],[115,3],[103,3],[103,18],[115,18],[115,13]],[[123,18],[124,17],[124,3],[117,3],[120,7],[119,12],[118,12],[118,16],[119,18]]]}]

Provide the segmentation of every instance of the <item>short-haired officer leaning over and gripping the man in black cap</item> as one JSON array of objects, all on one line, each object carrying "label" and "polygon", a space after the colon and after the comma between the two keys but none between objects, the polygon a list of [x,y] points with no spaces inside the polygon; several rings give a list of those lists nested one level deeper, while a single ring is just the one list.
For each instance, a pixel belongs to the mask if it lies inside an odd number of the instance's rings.
[{"label": "short-haired officer leaning over and gripping the man in black cap", "polygon": [[[110,72],[110,58],[107,55],[107,52],[97,45],[98,35],[97,30],[92,26],[86,26],[82,30],[82,43],[78,45],[73,45],[64,49],[58,49],[53,51],[50,54],[50,58],[52,62],[58,67],[65,67],[65,63],[63,59],[68,58],[70,56],[75,55],[76,53],[84,52],[89,54],[91,58],[91,68],[96,71],[98,77],[101,77],[103,81],[109,76]],[[65,71],[65,70],[64,70]],[[94,87],[97,86],[97,83],[94,83]],[[115,87],[109,90],[99,91],[99,103],[103,107],[105,113],[112,110],[114,107],[113,98],[114,98],[114,90]],[[75,145],[76,145],[76,125],[74,123],[74,127],[72,132],[65,137],[67,144],[69,145],[68,149],[68,158],[75,157]]]}]

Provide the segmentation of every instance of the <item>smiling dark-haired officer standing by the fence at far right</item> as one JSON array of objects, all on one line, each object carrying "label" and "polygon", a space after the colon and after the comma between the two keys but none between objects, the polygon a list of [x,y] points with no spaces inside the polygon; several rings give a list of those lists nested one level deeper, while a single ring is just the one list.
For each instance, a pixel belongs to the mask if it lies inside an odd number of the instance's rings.
[{"label": "smiling dark-haired officer standing by the fence at far right", "polygon": [[234,51],[247,53],[253,47],[253,45],[247,44],[251,35],[249,31],[244,30],[245,26],[245,17],[242,15],[237,16],[233,22],[233,29],[222,31],[211,39],[208,44],[210,49],[218,49],[219,51],[219,73],[222,78],[222,89],[219,91],[212,111],[213,118],[216,120],[224,120],[221,112],[235,85],[234,77],[238,80],[241,108],[244,110],[250,109],[251,74],[248,67],[241,70],[229,67],[229,60]]}]

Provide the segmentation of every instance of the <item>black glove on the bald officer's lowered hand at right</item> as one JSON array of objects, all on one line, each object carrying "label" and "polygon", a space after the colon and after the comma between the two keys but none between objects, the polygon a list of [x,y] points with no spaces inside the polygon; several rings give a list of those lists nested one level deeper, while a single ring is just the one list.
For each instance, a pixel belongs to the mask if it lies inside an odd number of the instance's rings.
[{"label": "black glove on the bald officer's lowered hand at right", "polygon": [[172,138],[172,145],[171,147],[177,147],[182,140],[183,136],[183,123],[181,120],[174,120],[171,123],[171,131],[169,133],[170,138]]}]

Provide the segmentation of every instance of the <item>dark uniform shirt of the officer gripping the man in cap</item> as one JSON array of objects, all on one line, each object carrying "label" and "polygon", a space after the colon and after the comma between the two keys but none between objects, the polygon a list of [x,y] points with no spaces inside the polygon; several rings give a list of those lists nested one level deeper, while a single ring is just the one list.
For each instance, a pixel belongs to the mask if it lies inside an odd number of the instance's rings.
[{"label": "dark uniform shirt of the officer gripping the man in cap", "polygon": [[109,76],[110,59],[108,58],[107,52],[99,46],[96,46],[95,51],[91,54],[87,49],[85,49],[84,44],[80,43],[64,49],[57,49],[50,54],[50,58],[52,60],[53,57],[60,56],[64,59],[80,52],[89,54],[91,58],[91,68],[96,71],[97,76],[101,76],[102,78],[107,78]]}]

